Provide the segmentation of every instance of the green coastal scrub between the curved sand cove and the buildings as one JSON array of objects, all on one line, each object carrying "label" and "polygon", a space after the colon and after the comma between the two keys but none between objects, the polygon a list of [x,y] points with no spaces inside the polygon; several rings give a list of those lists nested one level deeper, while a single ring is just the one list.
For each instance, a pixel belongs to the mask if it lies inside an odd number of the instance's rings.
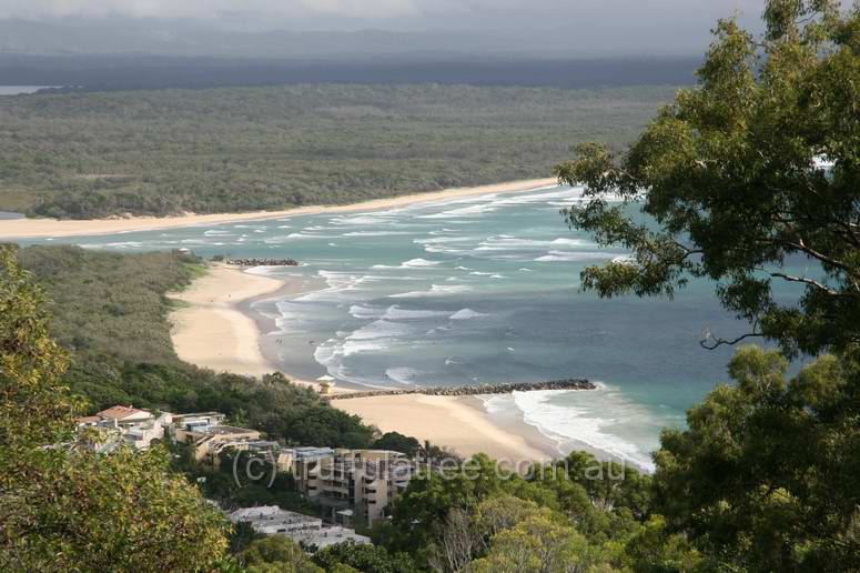
[{"label": "green coastal scrub between the curved sand cove and the buildings", "polygon": [[365,448],[374,430],[280,374],[215,374],[176,358],[166,293],[204,272],[176,253],[111,254],[77,247],[18,251],[50,298],[51,333],[72,353],[63,376],[90,411],[114,404],[215,410],[292,443]]}]

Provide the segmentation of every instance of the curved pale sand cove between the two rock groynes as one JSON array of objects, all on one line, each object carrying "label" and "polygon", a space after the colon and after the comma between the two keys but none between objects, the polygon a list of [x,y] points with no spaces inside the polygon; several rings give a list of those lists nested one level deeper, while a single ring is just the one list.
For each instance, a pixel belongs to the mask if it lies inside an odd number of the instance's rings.
[{"label": "curved pale sand cove between the two rock groynes", "polygon": [[[242,272],[239,267],[211,265],[209,273],[189,289],[171,294],[184,303],[170,315],[176,354],[215,372],[259,376],[276,371],[277,366],[260,351],[256,322],[240,306],[290,286],[276,279]],[[301,289],[301,284],[293,286]]]}]

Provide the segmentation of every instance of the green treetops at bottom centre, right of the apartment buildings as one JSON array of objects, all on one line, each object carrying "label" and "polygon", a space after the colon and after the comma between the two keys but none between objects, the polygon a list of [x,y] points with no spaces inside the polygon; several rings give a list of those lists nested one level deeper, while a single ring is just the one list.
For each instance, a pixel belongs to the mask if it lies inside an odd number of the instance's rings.
[{"label": "green treetops at bottom centre, right of the apartment buildings", "polygon": [[[637,500],[635,493],[650,486],[635,470],[608,473],[606,466],[575,452],[524,478],[477,455],[413,478],[377,539],[435,571],[624,569],[625,542],[641,530],[649,509],[647,496],[640,515],[621,500]],[[595,482],[588,490],[586,480]],[[610,503],[606,492],[619,502]]]}]

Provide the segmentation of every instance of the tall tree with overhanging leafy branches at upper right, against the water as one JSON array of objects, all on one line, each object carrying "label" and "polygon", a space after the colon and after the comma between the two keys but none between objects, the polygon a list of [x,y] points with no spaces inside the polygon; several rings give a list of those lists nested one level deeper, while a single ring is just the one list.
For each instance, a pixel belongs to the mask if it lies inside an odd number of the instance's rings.
[{"label": "tall tree with overhanging leafy branches at upper right, against the water", "polygon": [[[788,355],[858,349],[860,7],[839,7],[771,0],[761,39],[720,21],[699,86],[679,91],[629,150],[581,144],[556,168],[586,185],[587,201],[565,210],[569,223],[631,252],[583,271],[586,289],[671,295],[704,277],[751,324],[705,345],[763,336]],[[780,300],[776,281],[802,292]]]}]

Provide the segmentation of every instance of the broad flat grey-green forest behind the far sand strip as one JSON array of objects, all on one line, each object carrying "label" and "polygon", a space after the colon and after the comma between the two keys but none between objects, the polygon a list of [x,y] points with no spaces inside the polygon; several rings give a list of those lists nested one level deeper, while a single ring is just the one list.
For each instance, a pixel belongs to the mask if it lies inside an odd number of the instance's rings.
[{"label": "broad flat grey-green forest behind the far sand strip", "polygon": [[672,88],[320,84],[0,99],[0,210],[166,215],[546,177],[630,141]]}]

